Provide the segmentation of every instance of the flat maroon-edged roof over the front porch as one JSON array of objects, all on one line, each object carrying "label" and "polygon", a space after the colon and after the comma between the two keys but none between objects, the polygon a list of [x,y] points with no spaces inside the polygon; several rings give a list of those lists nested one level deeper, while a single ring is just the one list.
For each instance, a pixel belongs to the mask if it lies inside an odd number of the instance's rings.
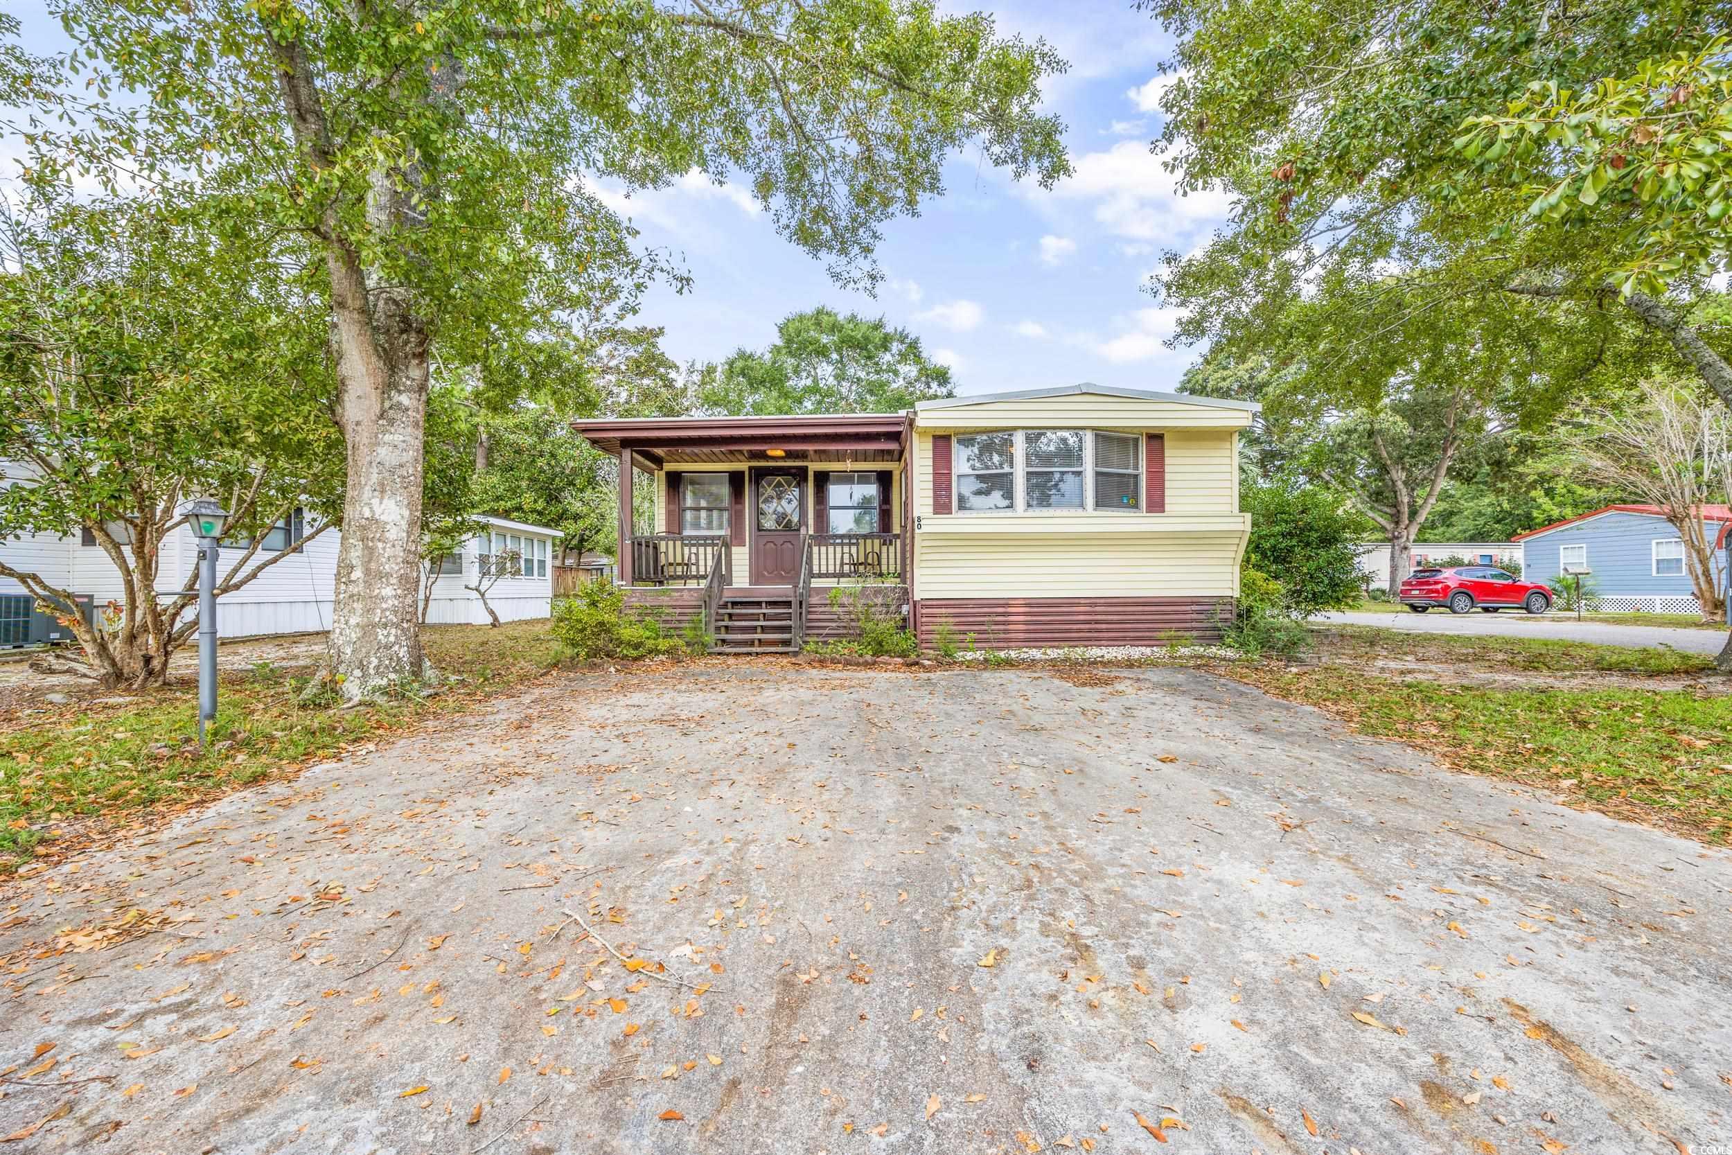
[{"label": "flat maroon-edged roof over the front porch", "polygon": [[[660,469],[698,461],[897,461],[908,440],[904,414],[805,414],[786,417],[613,417],[573,421],[572,429],[604,454],[630,450]],[[783,450],[771,457],[769,450]]]}]

